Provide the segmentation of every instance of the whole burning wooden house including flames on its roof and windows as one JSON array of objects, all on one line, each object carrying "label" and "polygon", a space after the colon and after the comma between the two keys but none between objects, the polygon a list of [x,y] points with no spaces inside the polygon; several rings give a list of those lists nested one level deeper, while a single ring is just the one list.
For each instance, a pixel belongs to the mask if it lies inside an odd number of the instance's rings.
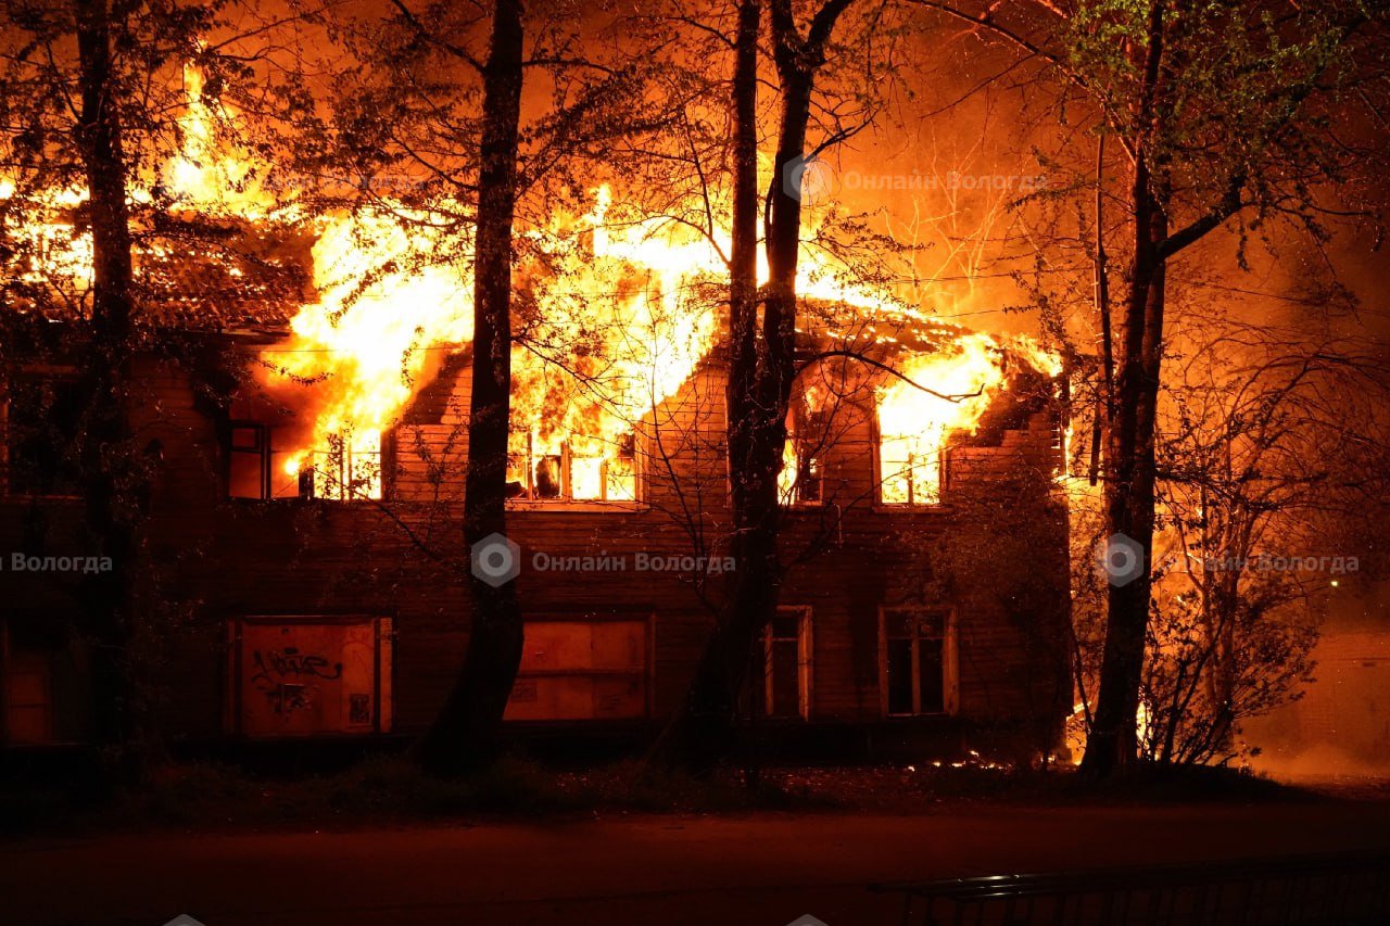
[{"label": "whole burning wooden house including flames on its roof and windows", "polygon": [[[677,708],[730,531],[717,254],[655,221],[607,228],[603,207],[517,274],[496,563],[525,609],[507,719],[578,740],[651,733]],[[171,738],[411,734],[453,680],[467,260],[409,228],[339,216],[303,241],[224,228],[215,247],[203,228],[196,249],[142,254],[129,399],[152,467],[152,709]],[[745,715],[827,754],[1045,748],[1070,709],[1059,371],[823,267],[803,296],[790,570]],[[0,398],[10,747],[86,736],[82,573],[103,567],[63,463],[81,313],[39,314]]]}]

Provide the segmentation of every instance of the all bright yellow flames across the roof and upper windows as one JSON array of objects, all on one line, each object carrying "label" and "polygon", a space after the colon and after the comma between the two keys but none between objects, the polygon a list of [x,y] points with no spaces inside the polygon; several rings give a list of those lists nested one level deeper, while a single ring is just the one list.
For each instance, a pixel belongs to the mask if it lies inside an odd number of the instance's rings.
[{"label": "all bright yellow flames across the roof and upper windows", "polygon": [[[285,216],[257,186],[263,171],[253,159],[220,135],[229,114],[213,111],[192,68],[185,92],[182,147],[158,185],[175,204],[200,211]],[[10,189],[0,179],[0,196]],[[70,190],[53,202],[71,207],[83,196]],[[513,352],[512,407],[513,478],[530,498],[637,498],[635,445],[720,335],[727,231],[710,241],[663,218],[609,221],[612,206],[603,188],[587,216],[531,232],[548,273],[525,279],[531,307]],[[431,216],[391,203],[316,224],[317,299],[299,309],[286,342],[261,353],[263,385],[299,419],[281,428],[272,494],[379,498],[384,431],[448,353],[473,338],[471,254]],[[89,236],[61,222],[32,234],[49,254],[46,273],[90,278]],[[764,263],[759,273],[766,279]],[[798,288],[831,307],[817,334],[894,345],[901,377],[877,389],[881,498],[937,501],[948,435],[974,428],[1004,382],[1001,342],[962,335],[945,349],[915,352],[899,336],[933,324],[930,313],[852,278],[819,249],[803,252]],[[1056,359],[1030,341],[1005,346],[1058,373]]]}]

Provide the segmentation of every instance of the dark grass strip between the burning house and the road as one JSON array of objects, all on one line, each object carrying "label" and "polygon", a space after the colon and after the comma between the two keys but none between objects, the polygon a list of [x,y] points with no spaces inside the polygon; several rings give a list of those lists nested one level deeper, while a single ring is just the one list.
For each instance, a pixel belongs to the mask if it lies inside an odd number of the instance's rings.
[{"label": "dark grass strip between the burning house and the road", "polygon": [[505,758],[463,780],[439,780],[398,755],[296,779],[185,762],[136,791],[95,804],[61,787],[0,791],[0,833],[88,830],[348,829],[623,813],[922,813],[942,804],[1068,805],[1318,799],[1230,769],[1147,770],[1101,784],[1066,769],[965,762],[769,769],[751,788],[727,770],[706,780],[653,773],[637,762],[582,772]]}]

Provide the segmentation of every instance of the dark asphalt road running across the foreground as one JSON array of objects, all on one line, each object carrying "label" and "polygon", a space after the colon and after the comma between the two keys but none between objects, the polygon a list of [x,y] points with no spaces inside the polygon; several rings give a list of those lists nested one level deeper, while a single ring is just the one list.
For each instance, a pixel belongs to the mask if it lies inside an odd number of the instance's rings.
[{"label": "dark asphalt road running across the foreground", "polygon": [[0,923],[894,923],[869,884],[1390,848],[1390,804],[645,816],[0,843]]}]

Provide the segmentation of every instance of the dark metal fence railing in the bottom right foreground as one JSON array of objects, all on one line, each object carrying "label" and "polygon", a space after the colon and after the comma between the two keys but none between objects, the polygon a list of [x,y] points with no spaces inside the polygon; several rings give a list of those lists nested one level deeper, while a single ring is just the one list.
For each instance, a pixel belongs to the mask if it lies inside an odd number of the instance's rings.
[{"label": "dark metal fence railing in the bottom right foreground", "polygon": [[1390,926],[1390,851],[876,884],[903,926]]}]

